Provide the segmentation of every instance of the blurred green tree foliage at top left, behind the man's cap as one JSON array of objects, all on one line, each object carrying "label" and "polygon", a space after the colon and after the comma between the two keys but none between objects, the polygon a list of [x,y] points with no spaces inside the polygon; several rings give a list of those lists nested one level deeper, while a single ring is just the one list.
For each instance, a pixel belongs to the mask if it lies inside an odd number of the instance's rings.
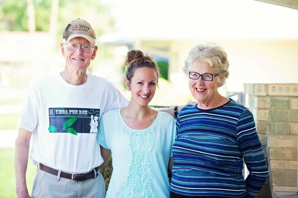
[{"label": "blurred green tree foliage at top left, behind the man's cap", "polygon": [[[34,0],[36,31],[49,31],[52,0]],[[58,32],[62,37],[68,22],[82,18],[92,23],[97,35],[113,30],[114,20],[108,9],[99,0],[60,0],[58,11]],[[98,19],[100,22],[95,23]],[[27,31],[27,1],[0,1],[0,30]]]}]

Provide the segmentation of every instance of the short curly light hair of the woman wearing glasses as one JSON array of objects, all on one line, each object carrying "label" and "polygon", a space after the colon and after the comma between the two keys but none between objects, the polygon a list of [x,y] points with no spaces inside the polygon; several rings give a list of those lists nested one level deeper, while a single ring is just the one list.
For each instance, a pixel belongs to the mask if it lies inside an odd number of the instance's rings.
[{"label": "short curly light hair of the woman wearing glasses", "polygon": [[211,67],[214,67],[219,74],[218,80],[219,87],[222,87],[227,79],[228,72],[228,60],[226,52],[222,47],[215,43],[207,43],[204,45],[196,45],[188,53],[187,58],[185,59],[185,65],[183,71],[188,75],[190,67],[193,62],[201,60],[207,62]]}]

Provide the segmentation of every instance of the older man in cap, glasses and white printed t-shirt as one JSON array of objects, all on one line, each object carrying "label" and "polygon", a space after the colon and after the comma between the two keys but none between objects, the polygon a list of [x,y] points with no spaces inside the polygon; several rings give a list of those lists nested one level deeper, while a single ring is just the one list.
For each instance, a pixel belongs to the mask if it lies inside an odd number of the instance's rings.
[{"label": "older man in cap, glasses and white printed t-shirt", "polygon": [[61,44],[64,71],[30,86],[15,142],[17,197],[30,197],[25,174],[32,134],[31,159],[39,167],[32,197],[104,197],[98,119],[107,110],[126,106],[127,100],[105,79],[86,73],[96,50],[91,25],[71,21]]}]

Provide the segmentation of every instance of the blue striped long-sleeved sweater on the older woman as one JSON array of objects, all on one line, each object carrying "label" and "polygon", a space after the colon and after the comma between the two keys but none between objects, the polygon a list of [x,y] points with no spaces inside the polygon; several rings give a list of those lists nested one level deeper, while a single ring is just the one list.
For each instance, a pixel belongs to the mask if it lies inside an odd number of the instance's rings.
[{"label": "blue striped long-sleeved sweater on the older woman", "polygon": [[[230,99],[214,109],[186,105],[176,119],[170,190],[187,196],[254,198],[268,168],[251,112]],[[243,159],[249,170],[242,176]]]}]

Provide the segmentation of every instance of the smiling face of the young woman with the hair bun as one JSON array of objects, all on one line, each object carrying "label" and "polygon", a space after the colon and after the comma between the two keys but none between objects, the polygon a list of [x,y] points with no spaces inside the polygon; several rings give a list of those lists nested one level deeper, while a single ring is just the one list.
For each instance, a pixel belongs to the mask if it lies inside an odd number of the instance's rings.
[{"label": "smiling face of the young woman with the hair bun", "polygon": [[141,67],[135,70],[131,82],[125,79],[125,83],[132,94],[131,102],[147,106],[155,94],[157,74],[152,68]]}]

